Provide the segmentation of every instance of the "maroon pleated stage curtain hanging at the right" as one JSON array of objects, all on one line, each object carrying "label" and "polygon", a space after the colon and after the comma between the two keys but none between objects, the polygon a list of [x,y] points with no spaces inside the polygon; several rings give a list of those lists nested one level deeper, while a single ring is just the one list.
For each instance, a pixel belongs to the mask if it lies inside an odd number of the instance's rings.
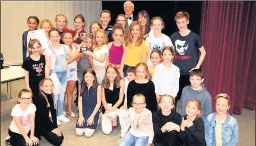
[{"label": "maroon pleated stage curtain hanging at the right", "polygon": [[255,24],[255,1],[203,1],[204,84],[213,98],[230,95],[230,114],[255,109]]}]

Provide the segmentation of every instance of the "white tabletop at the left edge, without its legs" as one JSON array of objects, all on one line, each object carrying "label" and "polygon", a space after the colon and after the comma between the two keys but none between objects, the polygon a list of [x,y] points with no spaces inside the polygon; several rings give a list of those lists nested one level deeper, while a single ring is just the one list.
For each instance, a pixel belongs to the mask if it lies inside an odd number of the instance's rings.
[{"label": "white tabletop at the left edge, without its legs", "polygon": [[21,66],[10,67],[9,69],[1,70],[1,83],[11,82],[13,80],[24,79],[25,72]]}]

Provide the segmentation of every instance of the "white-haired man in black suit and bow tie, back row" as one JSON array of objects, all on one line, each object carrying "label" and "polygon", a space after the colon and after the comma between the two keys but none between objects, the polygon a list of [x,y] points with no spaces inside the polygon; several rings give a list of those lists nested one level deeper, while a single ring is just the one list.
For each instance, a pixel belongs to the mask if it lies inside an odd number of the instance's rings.
[{"label": "white-haired man in black suit and bow tie, back row", "polygon": [[137,20],[136,16],[132,15],[132,12],[134,11],[134,4],[131,1],[126,1],[124,3],[124,11],[129,25],[131,24],[132,21]]}]

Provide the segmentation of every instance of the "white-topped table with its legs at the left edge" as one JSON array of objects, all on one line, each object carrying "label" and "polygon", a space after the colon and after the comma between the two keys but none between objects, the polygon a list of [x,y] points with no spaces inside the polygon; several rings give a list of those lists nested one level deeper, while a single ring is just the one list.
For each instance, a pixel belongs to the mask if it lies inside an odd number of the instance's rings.
[{"label": "white-topped table with its legs at the left edge", "polygon": [[1,70],[1,83],[7,83],[7,93],[8,93],[8,82],[10,83],[10,99],[11,95],[11,82],[14,80],[20,80],[25,78],[24,69],[21,66],[18,66],[17,70],[2,69]]}]

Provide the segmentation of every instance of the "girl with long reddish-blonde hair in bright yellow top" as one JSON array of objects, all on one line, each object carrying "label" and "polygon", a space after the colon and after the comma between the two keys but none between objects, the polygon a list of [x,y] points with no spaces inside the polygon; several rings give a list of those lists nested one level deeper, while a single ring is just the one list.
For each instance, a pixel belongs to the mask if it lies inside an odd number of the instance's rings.
[{"label": "girl with long reddish-blonde hair in bright yellow top", "polygon": [[124,50],[126,51],[124,64],[124,77],[127,76],[127,69],[136,66],[138,63],[147,63],[149,51],[146,42],[143,40],[143,30],[140,22],[133,21],[129,26],[132,40],[125,40]]}]

